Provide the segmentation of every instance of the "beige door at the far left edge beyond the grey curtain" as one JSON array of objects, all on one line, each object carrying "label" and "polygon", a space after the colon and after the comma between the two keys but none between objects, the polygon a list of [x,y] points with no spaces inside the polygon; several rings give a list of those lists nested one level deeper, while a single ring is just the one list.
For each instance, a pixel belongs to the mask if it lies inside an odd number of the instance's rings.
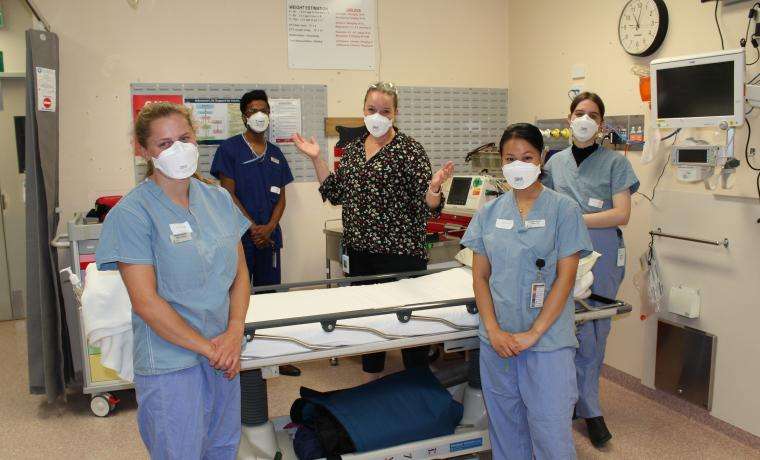
[{"label": "beige door at the far left edge beyond the grey curtain", "polygon": [[[19,170],[16,117],[26,112],[23,78],[3,79],[0,110],[0,319],[26,316],[26,209],[24,174]],[[23,127],[23,125],[21,125]],[[23,156],[22,156],[23,157]],[[8,298],[3,294],[8,290]],[[6,305],[10,306],[10,314]]]}]

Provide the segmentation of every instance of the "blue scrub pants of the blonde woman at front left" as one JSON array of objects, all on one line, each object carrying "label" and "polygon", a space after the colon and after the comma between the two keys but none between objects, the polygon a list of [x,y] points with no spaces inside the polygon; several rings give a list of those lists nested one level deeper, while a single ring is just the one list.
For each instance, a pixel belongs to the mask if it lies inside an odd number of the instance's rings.
[{"label": "blue scrub pants of the blonde woman at front left", "polygon": [[159,375],[135,375],[137,425],[150,458],[229,459],[240,444],[240,376],[227,380],[207,362]]}]

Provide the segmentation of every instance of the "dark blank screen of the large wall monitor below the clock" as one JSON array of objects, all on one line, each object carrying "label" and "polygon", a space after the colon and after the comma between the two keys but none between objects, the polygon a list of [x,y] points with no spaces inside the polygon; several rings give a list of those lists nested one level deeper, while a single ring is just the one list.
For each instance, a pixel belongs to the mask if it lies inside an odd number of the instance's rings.
[{"label": "dark blank screen of the large wall monitor below the clock", "polygon": [[657,118],[733,115],[733,61],[657,70]]}]

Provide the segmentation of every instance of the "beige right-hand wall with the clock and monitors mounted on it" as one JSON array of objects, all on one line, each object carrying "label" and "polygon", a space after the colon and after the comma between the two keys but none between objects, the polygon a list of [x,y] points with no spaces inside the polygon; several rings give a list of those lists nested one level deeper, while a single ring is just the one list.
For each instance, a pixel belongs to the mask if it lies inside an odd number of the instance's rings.
[{"label": "beige right-hand wall with the clock and monitors mounted on it", "polygon": [[[670,30],[661,50],[649,58],[633,58],[620,47],[617,24],[622,0],[572,0],[562,2],[561,11],[553,0],[512,0],[509,4],[510,121],[533,121],[536,118],[564,117],[568,113],[567,91],[573,81],[570,70],[584,64],[586,89],[602,95],[608,114],[648,113],[638,95],[638,79],[631,73],[634,64],[648,65],[650,59],[715,51],[720,41],[713,18],[714,3],[692,0],[668,1]],[[747,24],[751,3],[723,7],[721,25],[726,48],[737,48]],[[750,52],[749,58],[754,59]],[[760,66],[750,73],[760,71]],[[760,140],[760,123],[755,123],[752,141]],[[746,140],[746,128],[737,134],[737,155]],[[714,132],[683,133],[720,139]],[[664,155],[654,164],[644,166],[639,154],[629,154],[642,182],[642,191],[650,193],[662,168]],[[703,298],[700,320],[681,323],[698,327],[718,336],[717,369],[713,415],[747,431],[760,435],[760,393],[753,382],[760,380],[760,341],[756,325],[760,324],[758,288],[758,226],[760,217],[754,191],[754,176],[746,166],[738,174],[733,191],[716,197],[700,185],[676,184],[668,170],[658,187],[653,208],[641,197],[634,198],[631,223],[625,229],[629,248],[626,281],[621,296],[636,305],[628,317],[615,321],[606,362],[653,384],[656,321],[639,319],[638,293],[633,275],[638,271],[638,257],[649,242],[647,231],[663,226],[673,233],[705,238],[729,236],[732,248],[722,251],[688,243],[659,240],[663,252],[666,287],[686,284],[699,288]],[[674,216],[677,216],[674,217]],[[663,317],[675,319],[664,314]]]}]

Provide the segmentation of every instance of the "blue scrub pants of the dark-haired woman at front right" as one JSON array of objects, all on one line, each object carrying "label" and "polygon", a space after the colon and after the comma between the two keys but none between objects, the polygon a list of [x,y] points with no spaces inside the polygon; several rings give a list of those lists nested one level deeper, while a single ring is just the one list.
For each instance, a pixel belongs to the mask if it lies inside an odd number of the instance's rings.
[{"label": "blue scrub pants of the dark-haired woman at front right", "polygon": [[574,459],[574,348],[504,359],[480,343],[480,378],[494,459]]}]

